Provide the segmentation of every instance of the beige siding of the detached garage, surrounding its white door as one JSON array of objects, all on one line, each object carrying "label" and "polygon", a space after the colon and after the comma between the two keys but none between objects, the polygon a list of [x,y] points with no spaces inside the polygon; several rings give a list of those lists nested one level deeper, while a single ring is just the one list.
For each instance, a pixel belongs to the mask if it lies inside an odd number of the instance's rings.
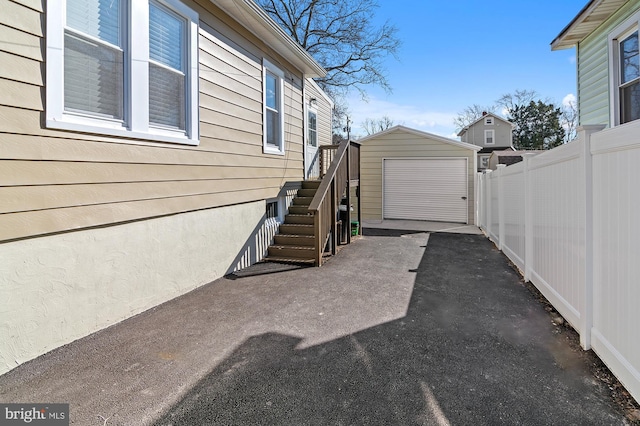
[{"label": "beige siding of the detached garage, surrounding its white door", "polygon": [[394,131],[362,141],[361,203],[364,219],[382,219],[382,160],[385,158],[466,157],[469,177],[469,223],[474,221],[474,180],[476,170],[473,161],[476,152],[438,140],[421,137],[404,131]]}]

